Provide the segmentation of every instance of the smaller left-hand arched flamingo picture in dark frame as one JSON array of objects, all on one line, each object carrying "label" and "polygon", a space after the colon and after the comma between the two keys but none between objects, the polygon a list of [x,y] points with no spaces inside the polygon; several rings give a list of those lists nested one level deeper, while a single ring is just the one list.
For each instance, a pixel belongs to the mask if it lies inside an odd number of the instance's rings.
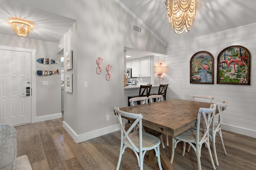
[{"label": "smaller left-hand arched flamingo picture in dark frame", "polygon": [[214,57],[208,51],[199,51],[191,57],[190,83],[214,84]]}]

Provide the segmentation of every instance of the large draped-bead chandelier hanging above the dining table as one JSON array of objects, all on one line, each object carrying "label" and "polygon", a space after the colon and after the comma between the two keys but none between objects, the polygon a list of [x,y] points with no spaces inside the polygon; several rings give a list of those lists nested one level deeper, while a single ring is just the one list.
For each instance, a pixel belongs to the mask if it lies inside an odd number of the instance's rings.
[{"label": "large draped-bead chandelier hanging above the dining table", "polygon": [[176,34],[189,32],[196,15],[197,0],[165,0],[167,18]]}]

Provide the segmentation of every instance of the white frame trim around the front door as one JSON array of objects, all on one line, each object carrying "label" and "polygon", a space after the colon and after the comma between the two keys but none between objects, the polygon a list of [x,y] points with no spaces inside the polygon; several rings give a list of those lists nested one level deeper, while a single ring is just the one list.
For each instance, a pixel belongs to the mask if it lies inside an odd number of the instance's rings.
[{"label": "white frame trim around the front door", "polygon": [[36,49],[0,45],[0,49],[31,53],[31,123],[36,122]]}]

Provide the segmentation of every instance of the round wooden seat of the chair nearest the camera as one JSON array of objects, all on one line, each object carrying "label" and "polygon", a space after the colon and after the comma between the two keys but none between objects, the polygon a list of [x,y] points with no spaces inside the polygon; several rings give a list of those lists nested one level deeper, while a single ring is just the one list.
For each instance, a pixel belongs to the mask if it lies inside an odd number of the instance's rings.
[{"label": "round wooden seat of the chair nearest the camera", "polygon": [[[135,146],[140,148],[139,145],[139,131],[132,132],[128,134],[132,142],[134,142]],[[127,138],[124,140],[124,144],[128,146],[129,148],[133,148],[133,146],[130,144],[130,142],[127,140]],[[143,150],[152,150],[153,148],[156,148],[160,144],[160,139],[152,134],[149,134],[147,132],[142,132],[142,148]]]}]

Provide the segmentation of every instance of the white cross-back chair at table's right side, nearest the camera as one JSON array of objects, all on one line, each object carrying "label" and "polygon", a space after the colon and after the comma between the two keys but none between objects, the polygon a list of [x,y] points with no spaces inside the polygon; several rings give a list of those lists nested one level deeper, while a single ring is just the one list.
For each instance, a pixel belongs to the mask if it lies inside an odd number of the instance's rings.
[{"label": "white cross-back chair at table's right side, nearest the camera", "polygon": [[[210,108],[200,108],[197,116],[197,129],[195,130],[193,128],[190,128],[189,130],[186,130],[185,132],[172,138],[172,157],[170,160],[171,163],[173,162],[174,149],[176,148],[178,142],[183,142],[182,156],[184,156],[185,154],[186,143],[188,143],[196,152],[198,169],[201,170],[202,169],[201,160],[200,160],[201,148],[202,148],[202,145],[205,144],[209,152],[212,168],[214,170],[216,169],[213,158],[212,158],[212,152],[210,149],[210,141],[209,141],[209,128],[210,128],[210,125],[212,124],[212,115],[215,114],[215,111],[216,111],[215,104],[211,104]],[[202,119],[202,122],[204,122],[206,125],[206,131],[204,133],[200,132],[201,117],[204,118]]]}]

